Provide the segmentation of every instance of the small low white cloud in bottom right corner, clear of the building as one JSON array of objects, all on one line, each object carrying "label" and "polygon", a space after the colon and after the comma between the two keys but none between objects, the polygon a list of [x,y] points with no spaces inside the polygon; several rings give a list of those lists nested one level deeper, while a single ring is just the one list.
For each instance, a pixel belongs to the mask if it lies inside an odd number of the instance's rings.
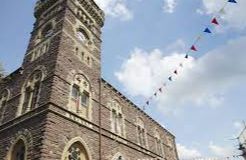
[{"label": "small low white cloud in bottom right corner, clear of the building", "polygon": [[218,146],[213,142],[210,142],[208,148],[215,156],[226,157],[234,155],[233,148]]}]

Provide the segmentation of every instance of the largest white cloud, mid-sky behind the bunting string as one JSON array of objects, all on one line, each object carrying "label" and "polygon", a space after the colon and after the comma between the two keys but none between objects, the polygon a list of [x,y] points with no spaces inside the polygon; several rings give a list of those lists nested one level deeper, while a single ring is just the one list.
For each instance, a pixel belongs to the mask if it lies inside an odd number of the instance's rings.
[{"label": "largest white cloud, mid-sky behind the bunting string", "polygon": [[[246,80],[245,43],[246,37],[241,37],[197,60],[190,58],[185,61],[184,68],[178,70],[179,76],[174,77],[174,82],[154,99],[160,111],[176,113],[181,107],[191,104],[210,107],[221,105],[224,94]],[[132,51],[131,57],[123,62],[115,74],[127,93],[148,98],[184,60],[180,52],[164,55],[159,49]]]}]

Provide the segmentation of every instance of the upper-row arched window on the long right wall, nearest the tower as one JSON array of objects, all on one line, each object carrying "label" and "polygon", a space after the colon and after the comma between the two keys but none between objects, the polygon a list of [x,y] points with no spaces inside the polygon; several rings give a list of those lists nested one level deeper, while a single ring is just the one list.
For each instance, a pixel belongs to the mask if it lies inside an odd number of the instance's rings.
[{"label": "upper-row arched window on the long right wall, nearest the tower", "polygon": [[125,136],[124,117],[120,104],[116,100],[112,100],[109,103],[109,108],[111,110],[111,131],[120,136]]}]

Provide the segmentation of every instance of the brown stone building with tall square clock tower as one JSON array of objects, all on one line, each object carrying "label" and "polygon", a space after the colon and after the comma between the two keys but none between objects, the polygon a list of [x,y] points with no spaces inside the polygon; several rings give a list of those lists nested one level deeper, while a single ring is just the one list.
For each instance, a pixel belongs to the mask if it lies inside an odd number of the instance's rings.
[{"label": "brown stone building with tall square clock tower", "polygon": [[34,15],[0,84],[0,160],[177,160],[175,137],[101,78],[96,3],[39,0]]}]

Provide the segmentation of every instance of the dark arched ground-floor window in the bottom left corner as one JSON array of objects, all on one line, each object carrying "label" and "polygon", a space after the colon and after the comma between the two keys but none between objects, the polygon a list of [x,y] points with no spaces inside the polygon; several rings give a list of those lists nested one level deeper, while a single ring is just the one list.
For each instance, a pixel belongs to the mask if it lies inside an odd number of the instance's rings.
[{"label": "dark arched ground-floor window in the bottom left corner", "polygon": [[23,140],[19,140],[12,149],[12,153],[10,155],[10,160],[27,160],[26,158],[26,146]]}]

